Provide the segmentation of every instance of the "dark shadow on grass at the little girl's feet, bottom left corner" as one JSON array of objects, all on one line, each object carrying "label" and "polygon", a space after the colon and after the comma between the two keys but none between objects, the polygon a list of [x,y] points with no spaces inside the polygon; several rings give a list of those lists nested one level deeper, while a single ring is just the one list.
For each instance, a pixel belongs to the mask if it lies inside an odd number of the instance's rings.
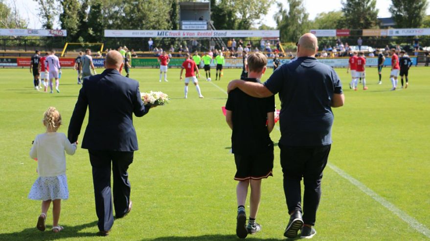
[{"label": "dark shadow on grass at the little girl's feet, bottom left corner", "polygon": [[[80,230],[85,228],[93,227],[97,225],[97,221],[81,224],[77,226],[64,225],[64,230],[59,233],[51,231],[51,226],[47,226],[45,232],[41,232],[36,227],[26,228],[20,232],[15,233],[2,233],[0,234],[0,240],[7,241],[51,241],[60,240],[66,238],[78,238],[78,237],[96,237],[96,233],[81,233]],[[49,228],[48,228],[49,227]]]}]

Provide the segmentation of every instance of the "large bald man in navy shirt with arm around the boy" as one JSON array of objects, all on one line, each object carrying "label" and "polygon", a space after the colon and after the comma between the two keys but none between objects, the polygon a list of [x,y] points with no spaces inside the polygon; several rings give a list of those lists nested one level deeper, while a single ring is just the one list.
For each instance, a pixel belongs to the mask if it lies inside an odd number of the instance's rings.
[{"label": "large bald man in navy shirt with arm around the boy", "polygon": [[[297,44],[297,60],[283,64],[264,85],[233,80],[228,91],[239,88],[253,97],[265,98],[279,93],[281,166],[290,221],[284,236],[302,238],[317,232],[316,213],[321,198],[322,172],[332,143],[332,107],[344,103],[342,84],[333,68],[315,58],[317,37],[304,34]],[[304,179],[302,218],[300,181]]]}]

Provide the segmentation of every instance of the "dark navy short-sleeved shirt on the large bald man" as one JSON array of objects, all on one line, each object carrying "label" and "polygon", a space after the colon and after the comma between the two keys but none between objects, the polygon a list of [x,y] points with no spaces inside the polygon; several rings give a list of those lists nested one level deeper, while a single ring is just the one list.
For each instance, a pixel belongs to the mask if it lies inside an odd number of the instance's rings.
[{"label": "dark navy short-sleeved shirt on the large bald man", "polygon": [[321,146],[332,143],[334,94],[342,94],[335,70],[312,57],[276,69],[264,85],[281,100],[280,144]]}]

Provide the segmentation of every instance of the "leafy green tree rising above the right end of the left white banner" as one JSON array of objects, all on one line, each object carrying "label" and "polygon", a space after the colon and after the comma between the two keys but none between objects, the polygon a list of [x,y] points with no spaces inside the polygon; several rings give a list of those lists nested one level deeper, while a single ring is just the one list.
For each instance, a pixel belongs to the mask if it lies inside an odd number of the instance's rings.
[{"label": "leafy green tree rising above the right end of the left white banner", "polygon": [[78,0],[60,0],[63,11],[60,13],[61,29],[67,30],[68,41],[75,41],[81,20],[79,10],[81,4]]}]

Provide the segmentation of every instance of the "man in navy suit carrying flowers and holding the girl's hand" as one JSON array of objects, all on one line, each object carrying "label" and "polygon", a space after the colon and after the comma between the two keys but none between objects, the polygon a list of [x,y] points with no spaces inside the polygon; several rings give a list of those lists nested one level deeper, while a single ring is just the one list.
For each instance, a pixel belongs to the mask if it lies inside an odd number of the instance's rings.
[{"label": "man in navy suit carrying flowers and holding the girl's hand", "polygon": [[85,78],[68,127],[68,139],[77,141],[88,106],[82,148],[90,154],[100,236],[107,236],[113,226],[111,163],[115,218],[124,217],[132,208],[127,169],[138,149],[133,113],[141,117],[150,108],[140,99],[139,83],[120,74],[123,65],[121,54],[110,51],[106,70]]}]

